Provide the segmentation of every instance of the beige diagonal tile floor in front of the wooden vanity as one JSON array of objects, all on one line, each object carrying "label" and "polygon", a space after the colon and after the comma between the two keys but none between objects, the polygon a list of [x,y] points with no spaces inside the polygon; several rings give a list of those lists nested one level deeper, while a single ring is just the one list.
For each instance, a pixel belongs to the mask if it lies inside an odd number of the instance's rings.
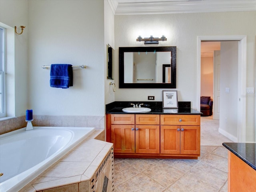
[{"label": "beige diagonal tile floor in front of the wooden vanity", "polygon": [[228,150],[205,144],[198,160],[114,159],[115,192],[227,192]]}]

